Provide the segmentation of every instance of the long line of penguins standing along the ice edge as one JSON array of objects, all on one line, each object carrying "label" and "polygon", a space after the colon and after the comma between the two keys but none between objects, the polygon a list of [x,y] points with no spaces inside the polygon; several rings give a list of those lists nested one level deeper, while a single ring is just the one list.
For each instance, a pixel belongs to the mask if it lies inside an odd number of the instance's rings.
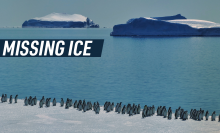
[{"label": "long line of penguins standing along the ice edge", "polygon": [[[18,99],[18,95],[15,96],[14,98],[14,103],[17,103],[17,99]],[[1,102],[7,102],[7,94],[2,94],[1,97]],[[10,95],[9,98],[9,104],[12,104],[13,102],[13,97],[12,95]],[[56,99],[54,98],[52,101],[52,105],[56,106]],[[32,98],[32,96],[29,96],[29,98],[25,98],[24,99],[24,105],[28,106],[34,106],[37,104],[37,98],[36,96],[34,98]],[[50,107],[51,104],[51,98],[44,98],[44,96],[42,97],[42,99],[39,102],[39,107],[43,108],[43,105],[45,105],[46,107]],[[99,102],[94,102],[94,104],[92,105],[91,101],[86,102],[85,99],[82,100],[75,100],[75,102],[73,103],[72,99],[67,98],[66,103],[64,102],[63,98],[61,98],[61,102],[60,102],[60,107],[63,107],[65,105],[65,109],[69,109],[70,107],[76,108],[79,111],[89,111],[89,110],[93,110],[95,112],[95,114],[99,114],[100,112],[100,105]],[[135,105],[133,103],[133,105],[128,104],[127,106],[124,105],[122,107],[122,102],[117,103],[116,106],[114,106],[114,102],[109,102],[106,101],[104,104],[104,111],[106,112],[111,112],[114,111],[117,112],[118,114],[128,114],[129,116],[133,116],[136,114],[140,114],[141,112],[141,106],[140,104]],[[169,109],[166,109],[166,106],[158,106],[157,108],[157,116],[163,116],[163,118],[167,118],[168,120],[172,119],[172,109],[171,107],[169,107]],[[142,110],[142,118],[145,117],[150,117],[153,116],[155,114],[155,107],[153,106],[147,106],[145,105],[143,110]],[[208,111],[204,111],[200,108],[200,110],[196,110],[196,109],[191,109],[190,114],[188,115],[188,111],[184,110],[183,108],[179,107],[178,109],[176,109],[175,111],[175,119],[182,119],[182,120],[188,120],[188,116],[190,117],[190,119],[193,120],[197,120],[197,121],[201,121],[203,120],[204,116],[205,116],[205,120],[208,121],[209,118],[209,112]],[[211,115],[211,121],[215,121],[216,118],[216,114],[215,111],[212,113]],[[219,114],[219,122],[220,122],[220,114]]]}]

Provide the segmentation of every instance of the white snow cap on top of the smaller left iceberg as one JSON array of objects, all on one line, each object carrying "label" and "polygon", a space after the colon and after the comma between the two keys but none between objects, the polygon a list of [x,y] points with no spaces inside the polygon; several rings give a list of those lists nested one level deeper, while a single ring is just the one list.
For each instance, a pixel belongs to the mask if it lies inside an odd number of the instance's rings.
[{"label": "white snow cap on top of the smaller left iceberg", "polygon": [[51,13],[44,17],[33,18],[40,21],[73,21],[86,22],[87,17],[80,14],[66,14],[66,13]]}]

